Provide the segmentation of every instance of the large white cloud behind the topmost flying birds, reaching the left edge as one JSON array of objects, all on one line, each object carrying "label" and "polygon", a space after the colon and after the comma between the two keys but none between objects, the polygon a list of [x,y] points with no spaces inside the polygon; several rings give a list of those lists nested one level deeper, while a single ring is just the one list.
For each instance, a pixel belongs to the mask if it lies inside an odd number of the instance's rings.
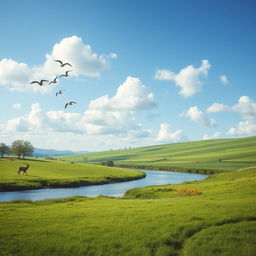
[{"label": "large white cloud behind the topmost flying birds, reaching the left edge", "polygon": [[[42,65],[29,67],[25,63],[18,63],[12,59],[0,60],[0,85],[7,86],[15,91],[40,91],[47,92],[50,86],[30,85],[33,80],[51,80],[56,75],[71,70],[70,76],[99,77],[100,73],[109,67],[110,59],[116,58],[115,53],[98,55],[92,47],[77,36],[62,39],[53,46],[51,54],[45,55],[46,60]],[[59,59],[70,62],[72,67],[61,68],[54,60]]]}]

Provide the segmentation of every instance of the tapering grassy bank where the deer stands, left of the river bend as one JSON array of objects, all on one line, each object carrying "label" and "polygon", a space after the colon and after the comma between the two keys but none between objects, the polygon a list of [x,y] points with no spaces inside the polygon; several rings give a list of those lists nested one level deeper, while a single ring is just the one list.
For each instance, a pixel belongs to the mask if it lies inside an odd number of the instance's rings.
[{"label": "tapering grassy bank where the deer stands, left of the river bend", "polygon": [[0,191],[103,184],[143,177],[136,170],[51,160],[25,160],[28,175],[17,175],[24,160],[0,158]]}]

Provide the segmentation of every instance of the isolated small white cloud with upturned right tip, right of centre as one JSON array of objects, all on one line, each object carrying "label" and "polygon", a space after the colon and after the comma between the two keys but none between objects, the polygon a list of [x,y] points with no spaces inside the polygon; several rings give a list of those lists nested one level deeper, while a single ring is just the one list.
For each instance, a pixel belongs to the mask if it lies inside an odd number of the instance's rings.
[{"label": "isolated small white cloud with upturned right tip, right of centre", "polygon": [[183,97],[191,97],[201,90],[203,77],[207,77],[211,65],[208,60],[203,60],[201,66],[195,68],[189,65],[180,70],[178,74],[170,70],[157,70],[155,79],[174,81],[181,88],[180,94]]}]

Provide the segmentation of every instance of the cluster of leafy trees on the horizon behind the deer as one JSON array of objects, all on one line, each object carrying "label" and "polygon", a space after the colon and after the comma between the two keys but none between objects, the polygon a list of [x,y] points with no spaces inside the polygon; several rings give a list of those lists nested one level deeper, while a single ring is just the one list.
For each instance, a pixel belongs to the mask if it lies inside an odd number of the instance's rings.
[{"label": "cluster of leafy trees on the horizon behind the deer", "polygon": [[15,140],[9,147],[5,143],[0,143],[0,155],[16,155],[18,158],[25,158],[31,156],[35,148],[27,140]]}]

